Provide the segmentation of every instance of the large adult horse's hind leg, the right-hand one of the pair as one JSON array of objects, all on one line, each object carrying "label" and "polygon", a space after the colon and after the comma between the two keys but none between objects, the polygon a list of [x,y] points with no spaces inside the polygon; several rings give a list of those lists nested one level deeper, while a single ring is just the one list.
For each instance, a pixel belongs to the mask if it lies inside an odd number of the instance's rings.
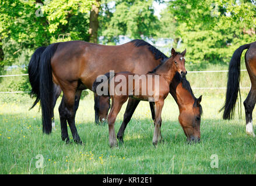
[{"label": "large adult horse's hind leg, the right-hand one of the pair", "polygon": [[65,111],[66,111],[66,119],[68,120],[69,128],[71,130],[73,140],[82,144],[80,137],[78,135],[78,131],[75,126],[75,94],[76,91],[72,89],[63,90],[64,92],[64,103],[65,103]]}]

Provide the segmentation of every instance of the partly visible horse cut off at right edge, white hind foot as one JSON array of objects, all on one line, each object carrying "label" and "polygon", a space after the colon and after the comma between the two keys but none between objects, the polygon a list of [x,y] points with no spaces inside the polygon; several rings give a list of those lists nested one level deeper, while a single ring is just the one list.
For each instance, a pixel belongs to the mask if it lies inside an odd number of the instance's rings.
[{"label": "partly visible horse cut off at right edge, white hind foot", "polygon": [[234,115],[238,92],[240,92],[241,54],[245,49],[248,49],[246,55],[244,55],[244,59],[251,80],[251,90],[244,101],[244,109],[246,110],[246,133],[255,137],[253,131],[253,109],[256,102],[256,42],[242,45],[234,51],[229,63],[225,105],[220,109],[220,112],[224,109],[223,119],[230,120]]}]

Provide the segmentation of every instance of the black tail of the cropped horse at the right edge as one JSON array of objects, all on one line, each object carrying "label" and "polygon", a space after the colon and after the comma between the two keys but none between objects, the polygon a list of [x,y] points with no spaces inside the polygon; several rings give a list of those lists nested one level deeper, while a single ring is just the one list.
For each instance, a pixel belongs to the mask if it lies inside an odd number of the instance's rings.
[{"label": "black tail of the cropped horse at the right edge", "polygon": [[[234,51],[233,56],[229,63],[229,73],[227,80],[227,92],[226,92],[226,101],[223,108],[219,110],[221,112],[224,109],[223,119],[232,119],[234,115],[234,110],[236,108],[236,100],[238,92],[240,94],[240,63],[241,55],[244,49],[248,49],[250,44],[243,45]],[[241,99],[241,95],[240,95]],[[241,104],[240,104],[241,105]]]}]

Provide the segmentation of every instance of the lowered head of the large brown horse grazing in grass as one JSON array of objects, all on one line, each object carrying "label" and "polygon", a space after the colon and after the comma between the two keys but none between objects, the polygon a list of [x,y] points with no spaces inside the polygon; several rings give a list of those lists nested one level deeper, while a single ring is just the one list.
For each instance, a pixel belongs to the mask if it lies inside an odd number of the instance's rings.
[{"label": "lowered head of the large brown horse grazing in grass", "polygon": [[194,104],[185,106],[185,109],[181,109],[180,115],[178,116],[178,120],[180,121],[181,127],[183,127],[188,142],[200,141],[200,123],[202,115],[201,101],[202,96],[198,99],[195,98]]}]

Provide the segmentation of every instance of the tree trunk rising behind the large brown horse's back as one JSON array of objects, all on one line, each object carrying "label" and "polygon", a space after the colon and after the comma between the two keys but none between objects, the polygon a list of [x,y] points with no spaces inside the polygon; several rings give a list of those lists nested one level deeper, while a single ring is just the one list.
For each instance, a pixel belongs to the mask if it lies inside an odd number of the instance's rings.
[{"label": "tree trunk rising behind the large brown horse's back", "polygon": [[98,42],[98,28],[99,28],[99,10],[100,10],[100,1],[96,0],[96,4],[92,6],[92,10],[90,10],[90,42],[97,43]]}]

